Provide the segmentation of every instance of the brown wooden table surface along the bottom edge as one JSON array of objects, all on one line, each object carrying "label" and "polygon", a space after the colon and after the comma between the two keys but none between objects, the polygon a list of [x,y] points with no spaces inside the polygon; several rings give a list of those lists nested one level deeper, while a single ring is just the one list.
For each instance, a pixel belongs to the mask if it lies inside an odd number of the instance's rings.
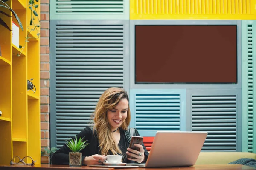
[{"label": "brown wooden table surface along the bottom edge", "polygon": [[[0,165],[0,170],[113,170],[113,168],[102,167],[69,167],[68,165],[41,164],[35,166],[28,165]],[[256,170],[254,167],[241,164],[224,165],[195,165],[190,167],[163,167],[163,168],[119,168],[117,170]]]}]

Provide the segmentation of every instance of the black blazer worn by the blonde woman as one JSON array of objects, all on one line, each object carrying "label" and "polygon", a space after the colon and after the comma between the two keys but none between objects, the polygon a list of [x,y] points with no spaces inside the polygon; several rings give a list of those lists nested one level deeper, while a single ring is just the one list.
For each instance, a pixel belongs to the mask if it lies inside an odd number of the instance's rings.
[{"label": "black blazer worn by the blonde woman", "polygon": [[[131,129],[133,130],[133,129]],[[131,135],[130,134],[130,129],[129,130],[124,130],[125,132],[125,142],[126,145],[129,146],[130,142],[131,142]],[[140,134],[138,133],[137,129],[134,129],[133,134],[135,133],[134,136],[140,136]],[[76,135],[76,137],[79,139],[80,137],[84,137],[84,141],[87,140],[87,143],[89,143],[87,145],[87,147],[85,147],[83,150],[81,150],[82,153],[82,159],[84,160],[84,158],[86,156],[92,156],[95,154],[99,154],[99,140],[98,140],[98,135],[96,133],[96,130],[94,131],[94,135],[93,135],[93,130],[90,127],[86,127],[84,128],[84,130],[82,130],[80,133],[78,133]],[[75,139],[75,137],[72,138],[73,140]],[[146,147],[143,145],[144,148],[144,155],[145,155],[145,161],[148,159],[148,151],[146,149]],[[52,156],[52,164],[58,164],[58,165],[68,165],[69,164],[69,155],[68,153],[70,152],[70,149],[67,147],[66,144],[64,144],[59,150],[57,150],[53,156]],[[128,160],[129,163],[134,163],[134,161],[130,161]]]}]

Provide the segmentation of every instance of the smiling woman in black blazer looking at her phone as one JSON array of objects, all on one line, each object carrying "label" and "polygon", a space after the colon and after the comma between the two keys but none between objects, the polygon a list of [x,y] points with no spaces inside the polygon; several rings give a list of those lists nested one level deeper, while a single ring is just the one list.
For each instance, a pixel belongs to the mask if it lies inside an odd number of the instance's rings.
[{"label": "smiling woman in black blazer looking at her phone", "polygon": [[[108,88],[99,98],[94,112],[94,127],[86,127],[76,136],[89,143],[81,152],[82,164],[103,164],[107,155],[122,155],[123,162],[142,163],[148,158],[144,144],[135,144],[140,151],[129,147],[128,125],[131,120],[129,98],[123,88]],[[140,136],[135,129],[135,135]],[[73,138],[74,139],[74,138]],[[128,152],[129,151],[129,152]],[[52,164],[69,164],[70,149],[64,145],[52,156]],[[130,155],[134,158],[127,158]]]}]

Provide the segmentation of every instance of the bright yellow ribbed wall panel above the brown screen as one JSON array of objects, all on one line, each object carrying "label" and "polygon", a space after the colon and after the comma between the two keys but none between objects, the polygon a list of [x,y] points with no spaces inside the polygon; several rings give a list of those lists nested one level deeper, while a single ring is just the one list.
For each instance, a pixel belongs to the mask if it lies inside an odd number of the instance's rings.
[{"label": "bright yellow ribbed wall panel above the brown screen", "polygon": [[131,20],[256,20],[256,0],[130,0]]}]

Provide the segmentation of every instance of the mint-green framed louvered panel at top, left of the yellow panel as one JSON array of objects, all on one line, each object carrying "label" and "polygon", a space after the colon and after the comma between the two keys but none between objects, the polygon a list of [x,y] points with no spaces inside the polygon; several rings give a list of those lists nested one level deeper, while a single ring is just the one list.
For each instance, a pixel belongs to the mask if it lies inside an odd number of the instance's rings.
[{"label": "mint-green framed louvered panel at top, left of the yellow panel", "polygon": [[129,20],[129,0],[50,0],[51,20]]}]

